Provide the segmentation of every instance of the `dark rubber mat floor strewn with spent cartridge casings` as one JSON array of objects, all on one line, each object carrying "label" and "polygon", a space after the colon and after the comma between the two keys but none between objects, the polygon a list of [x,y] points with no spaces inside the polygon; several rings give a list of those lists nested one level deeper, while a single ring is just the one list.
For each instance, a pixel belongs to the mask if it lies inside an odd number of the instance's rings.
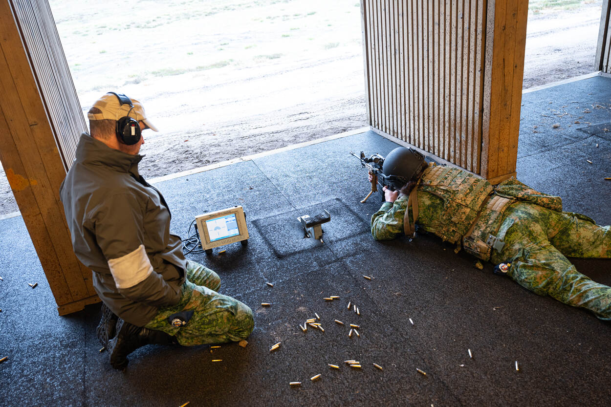
[{"label": "dark rubber mat floor strewn with spent cartridge casings", "polygon": [[[611,79],[596,77],[524,94],[518,158],[522,182],[601,224],[611,223],[611,181],[602,179],[611,175],[609,134],[568,127],[568,115],[554,119],[560,131],[541,121],[555,117],[548,107],[579,101],[570,114],[589,108],[593,125],[611,122],[610,92]],[[603,102],[606,109],[593,108]],[[23,219],[0,221],[0,358],[9,356],[0,363],[0,404],[606,406],[610,323],[527,292],[492,265],[477,270],[474,259],[433,236],[371,238],[379,194],[360,204],[370,190],[367,171],[349,152],[384,155],[394,147],[368,131],[156,184],[182,237],[196,215],[244,207],[247,246],[188,258],[218,272],[221,293],[252,307],[255,329],[245,348],[139,348],[124,373],[99,352],[99,304],[57,317]],[[304,239],[297,217],[323,209],[331,214],[322,225],[325,243]],[[610,260],[572,260],[611,284]],[[334,295],[340,298],[323,299]],[[298,325],[314,313],[324,332],[302,332]],[[360,326],[360,337],[347,336],[349,323]],[[348,359],[362,368],[347,367]]]}]

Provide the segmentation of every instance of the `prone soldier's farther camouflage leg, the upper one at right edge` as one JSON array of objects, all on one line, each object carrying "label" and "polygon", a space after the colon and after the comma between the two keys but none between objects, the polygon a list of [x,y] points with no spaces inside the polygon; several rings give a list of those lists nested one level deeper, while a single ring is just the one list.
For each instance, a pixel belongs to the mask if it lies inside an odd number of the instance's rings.
[{"label": "prone soldier's farther camouflage leg, the upper one at right edge", "polygon": [[555,212],[551,216],[549,240],[569,257],[611,257],[611,230],[598,226],[591,219],[571,212]]}]

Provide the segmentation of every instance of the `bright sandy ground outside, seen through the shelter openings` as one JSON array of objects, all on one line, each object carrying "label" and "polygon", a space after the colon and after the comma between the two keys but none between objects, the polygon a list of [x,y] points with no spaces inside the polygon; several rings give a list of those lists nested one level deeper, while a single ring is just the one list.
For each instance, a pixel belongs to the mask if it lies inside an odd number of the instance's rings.
[{"label": "bright sandy ground outside, seen through the shelter openings", "polygon": [[[50,4],[83,112],[114,90],[159,128],[147,178],[368,125],[357,0]],[[595,71],[600,18],[600,1],[529,10],[524,89]],[[0,168],[0,216],[15,211]]]}]

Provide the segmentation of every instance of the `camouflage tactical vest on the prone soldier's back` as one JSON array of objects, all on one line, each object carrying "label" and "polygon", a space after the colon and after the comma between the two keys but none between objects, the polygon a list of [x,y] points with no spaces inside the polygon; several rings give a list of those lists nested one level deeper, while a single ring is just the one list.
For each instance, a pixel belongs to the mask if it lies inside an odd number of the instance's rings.
[{"label": "camouflage tactical vest on the prone soldier's back", "polygon": [[432,225],[430,232],[445,241],[457,243],[477,220],[493,188],[485,179],[467,171],[433,166],[420,178],[418,191],[433,194],[444,201],[440,219]]}]

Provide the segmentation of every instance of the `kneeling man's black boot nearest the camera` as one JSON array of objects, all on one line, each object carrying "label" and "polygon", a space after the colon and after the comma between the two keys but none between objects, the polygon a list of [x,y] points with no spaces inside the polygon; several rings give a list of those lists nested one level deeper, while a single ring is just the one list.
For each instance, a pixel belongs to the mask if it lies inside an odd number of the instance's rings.
[{"label": "kneeling man's black boot nearest the camera", "polygon": [[134,350],[148,344],[170,345],[178,343],[176,337],[166,332],[154,329],[141,328],[119,318],[117,321],[117,336],[108,341],[111,366],[114,369],[124,370],[130,362],[127,355]]}]

